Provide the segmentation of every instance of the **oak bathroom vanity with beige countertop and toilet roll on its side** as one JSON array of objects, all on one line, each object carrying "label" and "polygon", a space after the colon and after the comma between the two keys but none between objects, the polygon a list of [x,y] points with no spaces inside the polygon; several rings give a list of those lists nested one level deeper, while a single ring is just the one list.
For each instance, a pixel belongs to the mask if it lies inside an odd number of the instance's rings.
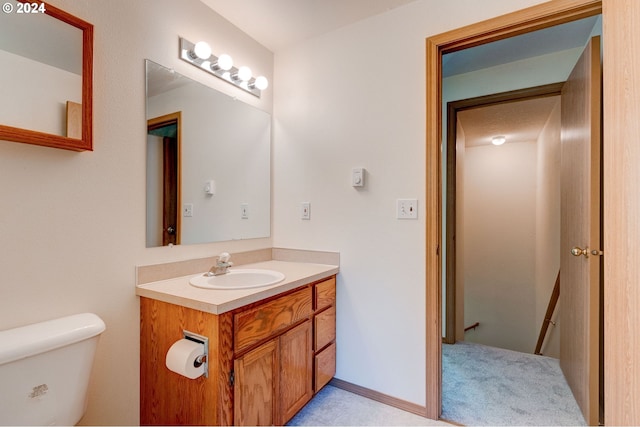
[{"label": "oak bathroom vanity with beige countertop and toilet roll on its side", "polygon": [[[285,279],[215,290],[191,286],[190,274],[136,287],[141,425],[284,425],[334,376],[338,266],[268,260],[241,268]],[[208,338],[207,376],[165,366],[183,331]]]}]

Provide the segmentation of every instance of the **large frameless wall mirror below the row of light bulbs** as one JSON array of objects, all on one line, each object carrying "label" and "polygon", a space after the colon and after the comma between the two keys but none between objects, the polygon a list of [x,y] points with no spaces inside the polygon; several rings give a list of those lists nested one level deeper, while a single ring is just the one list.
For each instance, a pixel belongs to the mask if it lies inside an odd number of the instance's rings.
[{"label": "large frameless wall mirror below the row of light bulbs", "polygon": [[146,61],[146,246],[269,237],[271,116]]}]

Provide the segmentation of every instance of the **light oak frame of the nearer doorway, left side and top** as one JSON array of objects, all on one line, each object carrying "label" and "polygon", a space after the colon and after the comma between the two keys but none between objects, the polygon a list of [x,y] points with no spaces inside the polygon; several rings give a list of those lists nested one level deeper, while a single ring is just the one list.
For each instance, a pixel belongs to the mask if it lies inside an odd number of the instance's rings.
[{"label": "light oak frame of the nearer doorway, left side and top", "polygon": [[442,55],[602,13],[601,0],[555,0],[426,40],[426,416],[442,410]]}]

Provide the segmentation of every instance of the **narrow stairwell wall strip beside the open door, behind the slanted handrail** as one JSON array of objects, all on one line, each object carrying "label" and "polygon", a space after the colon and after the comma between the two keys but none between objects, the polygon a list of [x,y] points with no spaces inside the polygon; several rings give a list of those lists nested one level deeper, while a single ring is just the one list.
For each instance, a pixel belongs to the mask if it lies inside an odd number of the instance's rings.
[{"label": "narrow stairwell wall strip beside the open door, behind the slanted handrail", "polygon": [[[560,99],[538,137],[536,200],[536,325],[544,321],[560,269]],[[560,301],[549,325],[542,354],[560,357]]]}]

